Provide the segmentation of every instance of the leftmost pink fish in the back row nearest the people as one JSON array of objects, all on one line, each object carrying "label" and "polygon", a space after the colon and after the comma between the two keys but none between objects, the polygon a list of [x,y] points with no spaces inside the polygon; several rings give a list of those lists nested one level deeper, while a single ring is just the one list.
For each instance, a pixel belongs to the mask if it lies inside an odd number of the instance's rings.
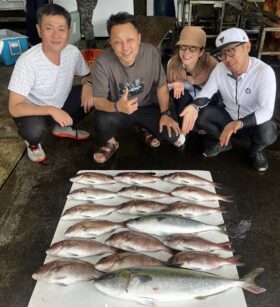
[{"label": "leftmost pink fish in the back row nearest the people", "polygon": [[70,178],[70,181],[85,185],[111,184],[116,182],[112,176],[96,172],[78,174]]}]

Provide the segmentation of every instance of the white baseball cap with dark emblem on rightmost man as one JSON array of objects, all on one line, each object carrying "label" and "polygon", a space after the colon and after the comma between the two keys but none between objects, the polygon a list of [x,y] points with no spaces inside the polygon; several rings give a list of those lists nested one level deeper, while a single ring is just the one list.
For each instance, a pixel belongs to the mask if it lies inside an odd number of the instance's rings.
[{"label": "white baseball cap with dark emblem on rightmost man", "polygon": [[216,47],[214,53],[220,52],[223,48],[234,43],[249,42],[248,35],[240,28],[230,28],[221,32],[216,38]]}]

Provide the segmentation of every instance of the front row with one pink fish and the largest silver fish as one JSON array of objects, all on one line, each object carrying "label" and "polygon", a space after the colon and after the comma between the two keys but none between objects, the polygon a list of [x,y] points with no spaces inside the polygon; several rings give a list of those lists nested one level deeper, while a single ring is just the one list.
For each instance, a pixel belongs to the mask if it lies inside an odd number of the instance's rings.
[{"label": "front row with one pink fish and the largest silver fish", "polygon": [[235,287],[259,294],[266,291],[255,283],[255,278],[262,272],[262,268],[255,269],[240,280],[164,266],[124,268],[102,274],[84,261],[55,260],[33,276],[45,274],[51,283],[54,281],[52,275],[56,274],[64,285],[70,284],[73,276],[76,280],[95,279],[95,288],[106,295],[150,305],[202,299]]}]

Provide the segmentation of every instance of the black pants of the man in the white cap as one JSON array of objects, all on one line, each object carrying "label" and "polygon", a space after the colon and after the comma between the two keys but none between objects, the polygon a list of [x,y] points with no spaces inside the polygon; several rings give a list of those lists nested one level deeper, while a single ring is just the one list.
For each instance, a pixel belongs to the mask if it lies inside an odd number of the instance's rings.
[{"label": "black pants of the man in the white cap", "polygon": [[[209,141],[219,141],[224,127],[232,121],[225,108],[207,106],[201,110],[197,120],[197,127],[208,133]],[[245,134],[251,141],[251,152],[261,151],[274,143],[277,139],[277,126],[273,120],[261,125],[243,128],[237,132]]]}]

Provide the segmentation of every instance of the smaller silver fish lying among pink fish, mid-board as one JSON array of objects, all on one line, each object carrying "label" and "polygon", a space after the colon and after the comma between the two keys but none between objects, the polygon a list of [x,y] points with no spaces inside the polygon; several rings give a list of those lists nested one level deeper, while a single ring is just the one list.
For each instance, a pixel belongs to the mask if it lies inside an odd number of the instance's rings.
[{"label": "smaller silver fish lying among pink fish, mid-board", "polygon": [[223,225],[214,226],[195,220],[173,215],[147,215],[126,221],[126,226],[132,230],[155,235],[170,235],[176,233],[189,234],[204,231],[219,231],[225,233]]}]

